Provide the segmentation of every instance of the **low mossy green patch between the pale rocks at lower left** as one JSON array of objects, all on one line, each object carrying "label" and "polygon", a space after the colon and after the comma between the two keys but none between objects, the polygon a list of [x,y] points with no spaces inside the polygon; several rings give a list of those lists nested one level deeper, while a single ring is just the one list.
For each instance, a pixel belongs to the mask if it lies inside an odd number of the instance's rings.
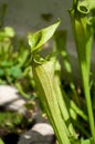
[{"label": "low mossy green patch between the pale rocks at lower left", "polygon": [[32,122],[27,120],[27,117],[18,112],[1,112],[0,113],[0,128],[4,130],[7,133],[21,133],[25,127]]}]

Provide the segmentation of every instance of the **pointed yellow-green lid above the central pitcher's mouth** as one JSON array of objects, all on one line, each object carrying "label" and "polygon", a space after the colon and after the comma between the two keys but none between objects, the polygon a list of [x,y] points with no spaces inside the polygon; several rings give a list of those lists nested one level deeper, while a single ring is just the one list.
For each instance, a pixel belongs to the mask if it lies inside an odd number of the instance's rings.
[{"label": "pointed yellow-green lid above the central pitcher's mouth", "polygon": [[61,22],[56,22],[48,28],[44,28],[38,31],[34,34],[29,34],[29,44],[31,47],[31,51],[34,52],[39,50],[45,42],[48,42],[51,37],[54,34],[56,28]]}]

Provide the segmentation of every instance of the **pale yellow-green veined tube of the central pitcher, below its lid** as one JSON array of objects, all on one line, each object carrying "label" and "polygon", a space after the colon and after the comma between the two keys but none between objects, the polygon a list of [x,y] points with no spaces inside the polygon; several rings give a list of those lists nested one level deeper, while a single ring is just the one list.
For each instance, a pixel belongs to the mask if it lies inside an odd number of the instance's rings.
[{"label": "pale yellow-green veined tube of the central pitcher, below its lid", "polygon": [[[43,107],[53,125],[60,144],[71,144],[66,124],[62,119],[54,89],[54,61],[39,63],[33,60],[33,76]],[[59,95],[57,95],[59,96]]]}]

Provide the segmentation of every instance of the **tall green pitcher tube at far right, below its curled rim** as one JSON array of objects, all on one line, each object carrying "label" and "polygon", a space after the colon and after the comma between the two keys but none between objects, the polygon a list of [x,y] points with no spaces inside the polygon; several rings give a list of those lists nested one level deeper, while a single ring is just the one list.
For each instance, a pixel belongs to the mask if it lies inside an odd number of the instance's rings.
[{"label": "tall green pitcher tube at far right, below its curled rim", "polygon": [[87,23],[88,20],[87,14],[71,9],[70,16],[71,16],[71,22],[74,32],[75,44],[76,44],[78,62],[81,68],[84,95],[85,95],[86,106],[88,112],[89,127],[91,127],[93,140],[95,142],[94,114],[92,109],[92,101],[91,101],[91,93],[89,93],[89,85],[88,85],[93,27]]}]

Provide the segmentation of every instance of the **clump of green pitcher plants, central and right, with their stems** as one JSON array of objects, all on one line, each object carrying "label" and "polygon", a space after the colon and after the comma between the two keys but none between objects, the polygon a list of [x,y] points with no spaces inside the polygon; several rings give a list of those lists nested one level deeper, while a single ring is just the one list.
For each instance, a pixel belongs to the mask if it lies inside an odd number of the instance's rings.
[{"label": "clump of green pitcher plants, central and right, with their stems", "polygon": [[[53,125],[59,144],[95,144],[95,120],[89,91],[91,49],[95,31],[95,17],[92,13],[94,9],[93,0],[74,0],[73,7],[68,11],[82,76],[84,92],[82,99],[80,99],[81,95],[77,94],[73,82],[72,66],[65,49],[65,32],[55,32],[60,21],[29,35],[38,95]],[[53,53],[43,59],[39,51],[53,34]],[[59,54],[62,55],[68,74],[72,97],[61,85],[62,65],[57,59]],[[82,109],[83,105],[85,109]]]}]

